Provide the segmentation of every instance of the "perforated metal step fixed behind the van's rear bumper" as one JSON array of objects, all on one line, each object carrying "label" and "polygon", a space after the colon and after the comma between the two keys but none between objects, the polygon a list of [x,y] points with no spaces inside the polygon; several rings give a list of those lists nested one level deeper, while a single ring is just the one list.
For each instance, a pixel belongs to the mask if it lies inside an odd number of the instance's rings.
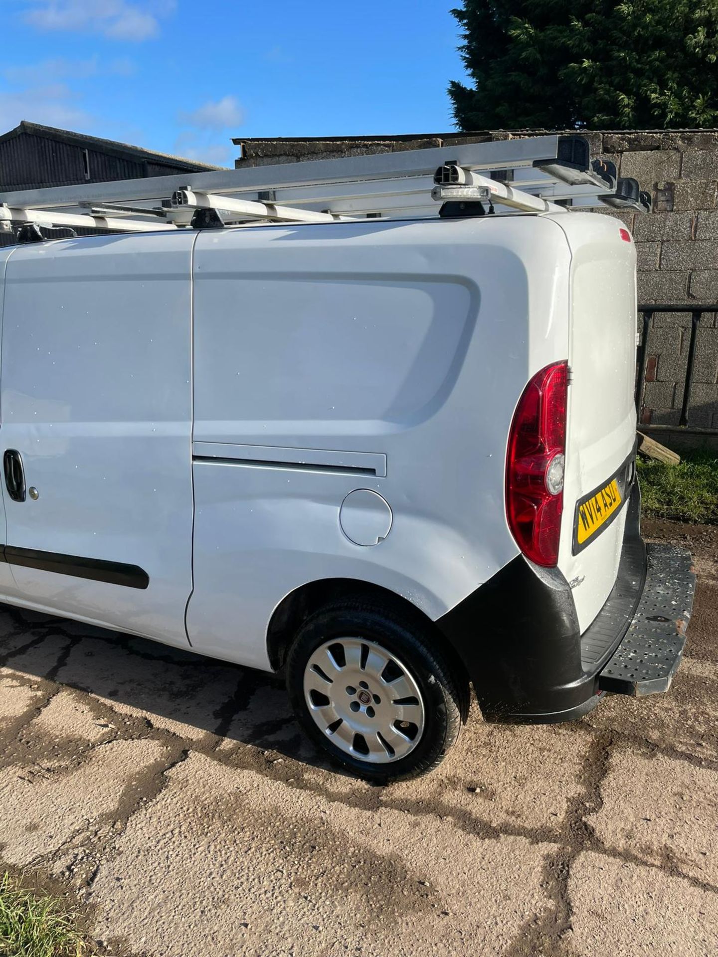
[{"label": "perforated metal step fixed behind the van's rear bumper", "polygon": [[667,691],[684,652],[696,576],[690,552],[648,545],[639,607],[616,652],[598,676],[601,691],[654,695]]}]

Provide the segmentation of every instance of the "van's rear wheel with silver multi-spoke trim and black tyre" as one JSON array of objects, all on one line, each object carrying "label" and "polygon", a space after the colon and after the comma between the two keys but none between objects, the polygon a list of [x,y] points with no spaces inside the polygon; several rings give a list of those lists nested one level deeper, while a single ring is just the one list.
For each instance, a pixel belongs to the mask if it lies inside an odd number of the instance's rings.
[{"label": "van's rear wheel with silver multi-spoke trim and black tyre", "polygon": [[377,783],[436,768],[459,736],[468,693],[437,642],[430,625],[389,604],[347,602],[314,612],[286,668],[308,736]]}]

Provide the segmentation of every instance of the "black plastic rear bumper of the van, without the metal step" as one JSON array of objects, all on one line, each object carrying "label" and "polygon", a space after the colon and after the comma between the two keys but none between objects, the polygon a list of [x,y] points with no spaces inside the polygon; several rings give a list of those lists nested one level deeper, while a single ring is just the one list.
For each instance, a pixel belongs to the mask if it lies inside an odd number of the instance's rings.
[{"label": "black plastic rear bumper of the van, without the metal step", "polygon": [[[583,635],[564,575],[558,568],[533,565],[523,555],[438,619],[439,630],[474,685],[484,720],[572,721],[600,700],[601,668],[628,631],[645,576],[635,477],[626,492],[629,504],[617,584]],[[611,634],[604,636],[597,660],[587,663],[583,639],[594,637],[603,626]]]}]

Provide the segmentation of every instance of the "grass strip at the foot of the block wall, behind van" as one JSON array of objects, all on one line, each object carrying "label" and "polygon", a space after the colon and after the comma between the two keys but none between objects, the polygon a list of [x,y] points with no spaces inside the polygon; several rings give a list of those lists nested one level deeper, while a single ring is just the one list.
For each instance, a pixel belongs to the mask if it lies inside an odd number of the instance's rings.
[{"label": "grass strip at the foot of the block wall, behind van", "polygon": [[642,512],[654,519],[718,524],[718,455],[688,452],[679,465],[639,456]]}]

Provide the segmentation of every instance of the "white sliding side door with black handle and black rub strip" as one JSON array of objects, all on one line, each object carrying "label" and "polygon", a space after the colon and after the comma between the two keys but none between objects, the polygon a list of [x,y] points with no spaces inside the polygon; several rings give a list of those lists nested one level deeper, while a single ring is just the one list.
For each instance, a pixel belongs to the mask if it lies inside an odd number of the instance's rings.
[{"label": "white sliding side door with black handle and black rub strip", "polygon": [[2,341],[16,597],[178,644],[191,593],[193,238],[17,248]]}]

